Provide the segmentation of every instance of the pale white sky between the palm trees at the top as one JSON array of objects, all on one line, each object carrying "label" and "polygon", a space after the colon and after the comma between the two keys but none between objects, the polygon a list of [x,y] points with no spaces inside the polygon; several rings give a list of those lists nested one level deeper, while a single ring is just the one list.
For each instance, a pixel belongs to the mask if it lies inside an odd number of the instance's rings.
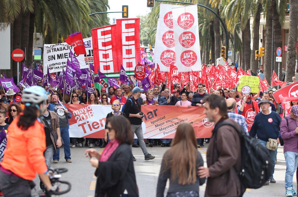
[{"label": "pale white sky between the palm trees at the top", "polygon": [[[137,15],[146,15],[150,12],[146,0],[108,0],[110,10],[108,12],[121,12],[122,5],[128,5],[128,18],[136,18]],[[109,13],[110,24],[113,24],[113,18],[122,18],[122,13]]]}]

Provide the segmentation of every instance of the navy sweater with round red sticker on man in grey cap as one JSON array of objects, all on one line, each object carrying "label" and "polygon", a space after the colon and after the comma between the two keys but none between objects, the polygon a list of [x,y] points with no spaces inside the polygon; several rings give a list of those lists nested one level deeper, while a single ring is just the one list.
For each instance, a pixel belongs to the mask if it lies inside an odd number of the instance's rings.
[{"label": "navy sweater with round red sticker on man in grey cap", "polygon": [[254,123],[252,124],[249,135],[254,137],[257,134],[258,139],[266,142],[268,141],[268,138],[277,139],[279,135],[280,121],[281,118],[277,112],[270,111],[268,115],[260,112],[254,118]]}]

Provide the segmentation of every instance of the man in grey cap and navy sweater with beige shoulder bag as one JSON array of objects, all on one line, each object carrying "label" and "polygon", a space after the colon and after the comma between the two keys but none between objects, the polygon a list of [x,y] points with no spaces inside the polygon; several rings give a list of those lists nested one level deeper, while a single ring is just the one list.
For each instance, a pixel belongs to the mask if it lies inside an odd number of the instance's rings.
[{"label": "man in grey cap and navy sweater with beige shoulder bag", "polygon": [[[277,112],[269,110],[269,100],[263,99],[259,103],[262,111],[258,113],[254,118],[254,123],[252,124],[252,129],[250,129],[249,135],[251,137],[255,137],[255,135],[257,135],[258,142],[262,144],[264,147],[266,147],[266,143],[270,138],[277,140],[279,135],[281,118]],[[273,170],[269,180],[265,183],[265,185],[269,185],[269,181],[270,183],[276,183],[275,179],[273,178],[273,174],[276,161],[277,147],[275,150],[268,149],[268,151],[271,155],[271,163]]]}]

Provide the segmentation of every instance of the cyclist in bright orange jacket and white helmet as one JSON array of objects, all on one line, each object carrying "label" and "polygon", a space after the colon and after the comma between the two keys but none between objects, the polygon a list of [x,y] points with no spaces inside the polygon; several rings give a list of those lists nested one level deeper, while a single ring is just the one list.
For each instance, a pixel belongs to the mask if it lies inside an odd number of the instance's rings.
[{"label": "cyclist in bright orange jacket and white helmet", "polygon": [[47,190],[58,190],[52,188],[47,175],[46,135],[44,125],[38,121],[46,108],[46,99],[46,90],[41,86],[24,89],[25,109],[8,127],[10,137],[0,166],[0,189],[4,196],[31,196],[36,173]]}]

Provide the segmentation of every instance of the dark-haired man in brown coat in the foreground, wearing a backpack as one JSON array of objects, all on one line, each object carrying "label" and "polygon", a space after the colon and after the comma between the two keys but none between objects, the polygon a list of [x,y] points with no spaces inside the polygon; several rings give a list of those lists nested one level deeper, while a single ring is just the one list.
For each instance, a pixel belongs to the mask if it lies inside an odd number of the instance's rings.
[{"label": "dark-haired man in brown coat in the foreground, wearing a backpack", "polygon": [[[211,95],[205,98],[205,114],[215,123],[207,149],[207,168],[198,168],[200,178],[207,179],[205,197],[242,196],[245,188],[241,186],[237,171],[241,167],[241,145],[238,132],[229,125],[217,128],[221,122],[240,126],[227,116],[224,97]],[[217,132],[215,132],[217,131]],[[231,146],[232,145],[232,146]]]}]

